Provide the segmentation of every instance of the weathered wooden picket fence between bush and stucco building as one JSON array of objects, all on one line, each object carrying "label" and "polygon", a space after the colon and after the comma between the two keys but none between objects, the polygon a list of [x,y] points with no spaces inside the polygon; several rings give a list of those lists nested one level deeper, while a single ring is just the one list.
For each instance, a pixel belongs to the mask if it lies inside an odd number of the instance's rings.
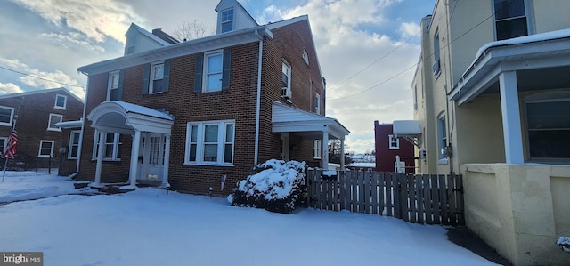
[{"label": "weathered wooden picket fence between bush and stucco building", "polygon": [[[330,171],[329,171],[330,172]],[[307,203],[315,209],[380,214],[406,222],[464,225],[461,175],[307,171]]]}]

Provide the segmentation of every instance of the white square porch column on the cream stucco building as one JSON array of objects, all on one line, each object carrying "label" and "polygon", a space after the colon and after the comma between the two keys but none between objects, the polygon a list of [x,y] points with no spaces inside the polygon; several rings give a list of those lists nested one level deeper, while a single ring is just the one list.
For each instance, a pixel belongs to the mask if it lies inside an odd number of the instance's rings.
[{"label": "white square porch column on the cream stucco building", "polygon": [[523,136],[518,106],[517,72],[507,71],[499,75],[501,87],[502,131],[505,140],[507,164],[523,164]]}]

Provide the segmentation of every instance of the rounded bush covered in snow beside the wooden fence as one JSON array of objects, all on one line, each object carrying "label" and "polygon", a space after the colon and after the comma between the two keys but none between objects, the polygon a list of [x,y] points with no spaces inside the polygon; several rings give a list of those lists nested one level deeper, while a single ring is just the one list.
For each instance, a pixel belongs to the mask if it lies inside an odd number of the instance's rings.
[{"label": "rounded bush covered in snow beside the wooden fence", "polygon": [[228,196],[233,206],[289,214],[305,200],[305,162],[270,159],[257,167],[256,173],[238,182]]}]

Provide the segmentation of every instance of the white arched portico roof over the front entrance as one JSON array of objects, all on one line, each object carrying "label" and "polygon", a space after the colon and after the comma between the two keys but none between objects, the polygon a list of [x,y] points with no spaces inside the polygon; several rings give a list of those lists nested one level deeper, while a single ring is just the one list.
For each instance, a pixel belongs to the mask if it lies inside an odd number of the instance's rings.
[{"label": "white arched portico roof over the front entrance", "polygon": [[174,118],[167,113],[123,101],[104,101],[87,119],[102,132],[124,134],[134,131],[169,134],[174,124]]}]

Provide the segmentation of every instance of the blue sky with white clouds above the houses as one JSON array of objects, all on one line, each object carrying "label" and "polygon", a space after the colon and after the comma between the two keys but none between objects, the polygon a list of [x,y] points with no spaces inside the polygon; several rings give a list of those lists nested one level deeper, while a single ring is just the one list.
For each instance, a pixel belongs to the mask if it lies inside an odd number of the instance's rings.
[{"label": "blue sky with white clouds above the houses", "polygon": [[[327,78],[328,117],[350,131],[348,150],[374,149],[374,120],[412,118],[419,21],[436,0],[240,0],[259,24],[307,14]],[[216,27],[217,0],[0,1],[0,93],[64,86],[85,99],[77,68],[123,54],[131,22],[174,33]]]}]

